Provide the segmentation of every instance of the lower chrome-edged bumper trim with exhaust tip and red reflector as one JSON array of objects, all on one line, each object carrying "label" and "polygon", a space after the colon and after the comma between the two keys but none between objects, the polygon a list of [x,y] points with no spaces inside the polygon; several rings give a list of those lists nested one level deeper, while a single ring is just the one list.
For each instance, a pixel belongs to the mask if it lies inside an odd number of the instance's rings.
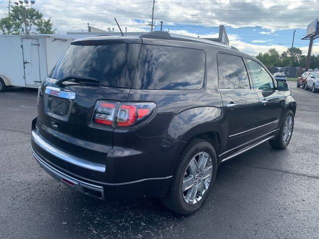
[{"label": "lower chrome-edged bumper trim with exhaust tip and red reflector", "polygon": [[[70,177],[69,175],[66,175],[65,173],[62,173],[58,170],[56,170],[55,168],[51,167],[49,164],[47,164],[46,162],[44,162],[37,154],[36,152],[33,150],[32,148],[32,153],[34,158],[36,159],[36,161],[40,164],[40,166],[49,174],[51,175],[54,179],[63,182],[65,185],[67,185],[68,187],[74,189],[75,191],[79,191],[81,193],[84,193],[86,195],[95,197],[95,198],[99,198],[104,200],[104,188],[101,186],[97,186],[94,184],[90,184],[90,183],[86,183],[83,181],[80,181],[78,179],[75,179],[73,177]],[[74,185],[71,186],[70,184],[66,183],[65,181],[62,180],[66,179],[70,182],[72,182]],[[98,195],[92,193],[92,191],[94,192],[98,192]]]}]

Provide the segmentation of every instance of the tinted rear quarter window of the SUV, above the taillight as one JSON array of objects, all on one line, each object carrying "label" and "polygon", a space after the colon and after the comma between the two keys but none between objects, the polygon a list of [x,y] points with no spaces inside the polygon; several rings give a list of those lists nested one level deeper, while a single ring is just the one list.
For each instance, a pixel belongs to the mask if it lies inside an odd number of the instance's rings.
[{"label": "tinted rear quarter window of the SUV, above the taillight", "polygon": [[198,90],[205,74],[205,52],[198,49],[143,45],[133,89]]}]

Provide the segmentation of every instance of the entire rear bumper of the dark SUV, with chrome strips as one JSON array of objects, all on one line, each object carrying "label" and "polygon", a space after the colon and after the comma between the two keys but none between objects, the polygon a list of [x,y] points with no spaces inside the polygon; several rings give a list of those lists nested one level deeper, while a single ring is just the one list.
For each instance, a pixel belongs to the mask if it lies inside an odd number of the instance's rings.
[{"label": "entire rear bumper of the dark SUV, with chrome strips", "polygon": [[[172,175],[166,176],[173,164],[170,150],[162,152],[166,157],[160,155],[161,162],[156,156],[150,157],[149,152],[133,156],[109,153],[105,164],[97,164],[50,144],[39,134],[35,120],[31,135],[32,152],[40,166],[56,180],[81,193],[102,200],[161,197],[170,185]],[[146,140],[151,141],[149,138]],[[161,168],[157,164],[161,164]]]}]

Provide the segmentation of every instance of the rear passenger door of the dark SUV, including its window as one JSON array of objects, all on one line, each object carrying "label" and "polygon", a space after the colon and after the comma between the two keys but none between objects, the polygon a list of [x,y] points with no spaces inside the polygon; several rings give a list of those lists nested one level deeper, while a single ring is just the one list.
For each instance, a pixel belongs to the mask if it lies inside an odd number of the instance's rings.
[{"label": "rear passenger door of the dark SUV, including its window", "polygon": [[259,98],[251,89],[241,56],[219,53],[219,92],[225,117],[225,152],[227,157],[256,138]]}]

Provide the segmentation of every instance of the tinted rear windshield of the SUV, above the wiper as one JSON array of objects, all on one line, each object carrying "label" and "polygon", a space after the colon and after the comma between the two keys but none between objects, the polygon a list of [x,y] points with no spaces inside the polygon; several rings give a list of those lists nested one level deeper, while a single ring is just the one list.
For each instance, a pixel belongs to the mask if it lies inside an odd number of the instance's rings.
[{"label": "tinted rear windshield of the SUV, above the wiper", "polygon": [[141,44],[71,45],[49,77],[93,77],[103,86],[130,88]]}]

